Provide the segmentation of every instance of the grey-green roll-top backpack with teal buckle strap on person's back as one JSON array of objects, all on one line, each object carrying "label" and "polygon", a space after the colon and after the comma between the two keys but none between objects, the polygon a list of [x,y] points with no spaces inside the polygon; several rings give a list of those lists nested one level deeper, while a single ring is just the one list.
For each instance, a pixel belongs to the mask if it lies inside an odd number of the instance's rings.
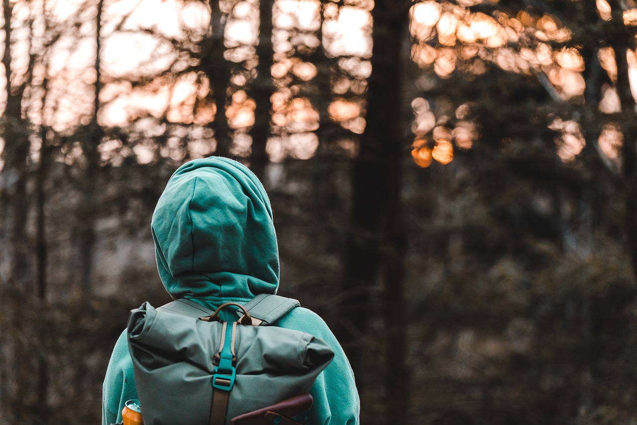
[{"label": "grey-green roll-top backpack with teal buckle strap on person's back", "polygon": [[[144,423],[299,423],[291,418],[309,410],[311,385],[334,352],[310,334],[270,326],[297,306],[261,294],[214,312],[188,299],[132,310],[129,352]],[[220,320],[226,308],[239,320]]]}]

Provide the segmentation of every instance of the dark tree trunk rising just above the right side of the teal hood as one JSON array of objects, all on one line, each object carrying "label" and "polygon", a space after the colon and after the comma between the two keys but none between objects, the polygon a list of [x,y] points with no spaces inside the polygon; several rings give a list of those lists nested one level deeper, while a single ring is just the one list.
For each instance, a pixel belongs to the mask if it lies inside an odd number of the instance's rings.
[{"label": "dark tree trunk rising just above the right side of the teal hood", "polygon": [[273,1],[259,2],[259,45],[257,45],[257,78],[252,84],[250,95],[256,103],[254,110],[254,125],[250,130],[252,137],[252,155],[250,169],[259,179],[263,180],[268,153],[266,144],[270,133],[270,114],[272,109],[272,94],[275,84],[272,80],[273,49],[272,49],[272,7]]}]

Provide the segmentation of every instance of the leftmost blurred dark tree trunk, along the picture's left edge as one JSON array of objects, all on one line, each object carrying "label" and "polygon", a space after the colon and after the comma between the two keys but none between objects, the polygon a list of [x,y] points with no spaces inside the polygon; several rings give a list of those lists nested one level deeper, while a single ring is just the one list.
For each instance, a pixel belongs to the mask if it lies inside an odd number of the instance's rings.
[{"label": "leftmost blurred dark tree trunk, along the picture's left edge", "polygon": [[[6,75],[6,109],[3,117],[4,149],[2,152],[4,167],[2,170],[3,190],[0,193],[0,205],[6,228],[6,253],[8,262],[8,274],[0,277],[3,283],[3,312],[8,319],[3,326],[13,332],[4,334],[7,338],[3,343],[3,355],[6,359],[7,373],[3,376],[6,380],[2,385],[3,406],[0,406],[8,417],[15,421],[25,418],[25,406],[33,403],[32,382],[24,380],[32,372],[31,358],[25,357],[32,338],[32,329],[25,326],[21,320],[21,311],[24,304],[32,301],[30,298],[33,290],[33,274],[29,260],[32,250],[29,246],[29,237],[26,232],[27,216],[29,212],[29,196],[27,193],[27,158],[29,155],[29,130],[27,123],[22,118],[22,99],[27,81],[19,86],[12,84],[13,57],[11,56],[11,23],[13,22],[13,5],[9,0],[4,0],[4,55],[3,65]],[[31,71],[32,60],[29,62]],[[20,302],[18,304],[18,302]],[[15,335],[20,335],[16,338]]]}]

